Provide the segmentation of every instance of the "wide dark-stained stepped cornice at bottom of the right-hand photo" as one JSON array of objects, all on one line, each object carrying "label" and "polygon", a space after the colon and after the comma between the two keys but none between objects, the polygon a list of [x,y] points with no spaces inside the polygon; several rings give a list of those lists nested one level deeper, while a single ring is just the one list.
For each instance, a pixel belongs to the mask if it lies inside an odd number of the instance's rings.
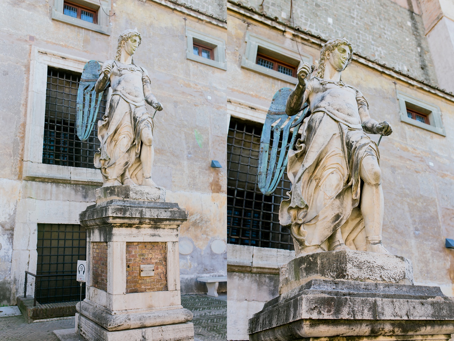
[{"label": "wide dark-stained stepped cornice at bottom of the right-hand photo", "polygon": [[453,330],[454,300],[439,287],[320,279],[268,301],[249,320],[251,341]]}]

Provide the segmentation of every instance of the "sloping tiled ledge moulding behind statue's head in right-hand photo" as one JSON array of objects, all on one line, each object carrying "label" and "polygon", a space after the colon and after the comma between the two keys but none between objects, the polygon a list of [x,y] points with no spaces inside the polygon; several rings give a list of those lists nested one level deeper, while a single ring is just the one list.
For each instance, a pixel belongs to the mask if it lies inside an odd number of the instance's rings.
[{"label": "sloping tiled ledge moulding behind statue's head in right-hand photo", "polygon": [[[234,12],[237,12],[240,15],[247,16],[250,19],[257,20],[261,22],[262,24],[265,24],[267,26],[270,26],[272,28],[275,28],[276,30],[282,31],[283,35],[286,35],[288,38],[292,38],[293,36],[297,36],[301,38],[302,40],[306,41],[306,43],[309,44],[315,44],[318,47],[323,45],[327,40],[322,38],[319,35],[312,35],[309,32],[301,30],[299,26],[292,27],[290,25],[287,25],[284,22],[279,21],[279,18],[271,18],[266,15],[266,13],[260,13],[253,7],[249,8],[246,6],[243,6],[241,2],[236,2],[233,0],[228,0],[227,1],[227,9],[232,10]],[[401,80],[409,85],[413,85],[419,89],[428,91],[434,95],[438,95],[439,97],[442,97],[446,100],[449,100],[451,102],[454,102],[454,94],[447,92],[444,89],[440,89],[439,87],[428,84],[424,82],[423,80],[418,80],[408,74],[405,74],[399,70],[395,70],[394,68],[390,68],[386,66],[385,64],[380,64],[376,60],[371,60],[370,58],[362,55],[358,55],[355,53],[353,55],[353,60],[359,62],[360,64],[363,64],[365,66],[369,66],[370,68],[377,70],[385,75],[389,75],[390,77]]]}]

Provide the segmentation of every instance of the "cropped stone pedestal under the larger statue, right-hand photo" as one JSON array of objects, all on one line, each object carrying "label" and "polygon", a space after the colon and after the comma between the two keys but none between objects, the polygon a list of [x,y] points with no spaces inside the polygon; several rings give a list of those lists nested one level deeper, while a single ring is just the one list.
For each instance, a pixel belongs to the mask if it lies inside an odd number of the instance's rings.
[{"label": "cropped stone pedestal under the larger statue, right-hand photo", "polygon": [[400,256],[327,251],[281,268],[280,295],[249,320],[251,341],[444,340],[454,298],[414,286]]}]

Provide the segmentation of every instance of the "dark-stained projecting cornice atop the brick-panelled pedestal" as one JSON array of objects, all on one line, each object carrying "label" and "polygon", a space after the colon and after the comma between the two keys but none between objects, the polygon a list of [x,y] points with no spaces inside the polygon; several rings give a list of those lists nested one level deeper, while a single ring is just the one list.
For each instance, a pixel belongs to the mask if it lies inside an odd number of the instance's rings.
[{"label": "dark-stained projecting cornice atop the brick-panelled pedestal", "polygon": [[[80,225],[152,225],[178,228],[188,219],[188,211],[172,202],[109,200],[88,206],[80,213]],[[118,226],[121,227],[121,226]]]}]

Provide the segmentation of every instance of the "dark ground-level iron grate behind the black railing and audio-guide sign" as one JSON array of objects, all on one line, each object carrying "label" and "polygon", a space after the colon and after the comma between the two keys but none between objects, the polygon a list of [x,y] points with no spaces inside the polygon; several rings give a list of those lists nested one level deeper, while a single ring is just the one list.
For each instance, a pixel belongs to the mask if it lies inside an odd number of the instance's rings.
[{"label": "dark ground-level iron grate behind the black railing and audio-guide sign", "polygon": [[[86,230],[76,224],[38,224],[36,251],[38,261],[36,300],[40,304],[79,301],[80,285],[75,276],[52,277],[55,274],[75,274],[77,260],[86,257]],[[85,283],[82,284],[82,299]]]}]

